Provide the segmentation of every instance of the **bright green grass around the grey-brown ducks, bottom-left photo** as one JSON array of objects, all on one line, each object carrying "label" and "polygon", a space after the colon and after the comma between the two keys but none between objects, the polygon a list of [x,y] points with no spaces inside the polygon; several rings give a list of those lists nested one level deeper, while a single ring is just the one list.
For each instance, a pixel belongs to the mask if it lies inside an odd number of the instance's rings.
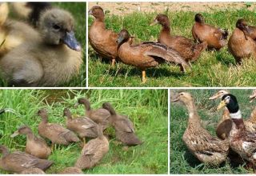
[{"label": "bright green grass around the grey-brown ducks, bottom-left photo", "polygon": [[[46,108],[50,122],[65,126],[63,109],[70,107],[73,114],[84,114],[82,106],[74,109],[74,103],[78,98],[86,97],[90,98],[93,108],[111,102],[120,114],[129,115],[136,134],[144,143],[123,150],[115,140],[114,129],[107,129],[105,134],[110,141],[110,151],[98,166],[84,170],[85,174],[167,174],[167,90],[0,90],[0,97],[0,107],[18,112],[0,117],[0,144],[12,151],[25,150],[25,136],[10,138],[18,126],[27,124],[38,134],[38,109]],[[67,166],[74,166],[81,150],[78,143],[57,146],[49,158],[54,165],[46,173],[58,173]],[[0,173],[6,174],[3,170]]]}]

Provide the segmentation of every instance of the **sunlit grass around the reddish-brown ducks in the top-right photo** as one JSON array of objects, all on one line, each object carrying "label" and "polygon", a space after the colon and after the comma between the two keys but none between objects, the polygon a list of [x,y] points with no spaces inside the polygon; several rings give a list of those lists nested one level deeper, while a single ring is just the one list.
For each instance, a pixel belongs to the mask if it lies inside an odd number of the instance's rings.
[{"label": "sunlit grass around the reddish-brown ducks in the top-right photo", "polygon": [[[192,39],[191,29],[196,12],[162,12],[170,18],[174,35],[182,35]],[[137,42],[156,42],[161,26],[149,26],[157,14],[139,13],[124,16],[106,14],[106,28],[118,32],[125,28],[135,36]],[[256,17],[254,11],[215,9],[213,13],[202,13],[206,23],[228,29],[230,34],[238,18],[246,18],[253,25]],[[89,18],[89,26],[94,18]],[[126,66],[119,62],[115,68],[109,62],[102,62],[98,54],[89,45],[89,86],[255,86],[256,61],[248,60],[242,66],[235,64],[234,57],[228,52],[227,46],[220,51],[203,51],[197,62],[193,63],[192,71],[182,74],[178,66],[162,64],[146,70],[147,82],[142,84],[141,71],[134,66]]]}]

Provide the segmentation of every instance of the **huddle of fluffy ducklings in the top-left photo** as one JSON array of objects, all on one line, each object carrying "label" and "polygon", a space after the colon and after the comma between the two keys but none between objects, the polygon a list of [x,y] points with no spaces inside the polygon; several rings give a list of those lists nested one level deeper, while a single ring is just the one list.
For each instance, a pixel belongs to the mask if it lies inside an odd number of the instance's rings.
[{"label": "huddle of fluffy ducklings in the top-left photo", "polygon": [[1,78],[8,86],[58,86],[69,82],[82,65],[72,15],[48,2],[12,4],[29,19],[22,22],[8,18],[8,4],[0,2]]}]

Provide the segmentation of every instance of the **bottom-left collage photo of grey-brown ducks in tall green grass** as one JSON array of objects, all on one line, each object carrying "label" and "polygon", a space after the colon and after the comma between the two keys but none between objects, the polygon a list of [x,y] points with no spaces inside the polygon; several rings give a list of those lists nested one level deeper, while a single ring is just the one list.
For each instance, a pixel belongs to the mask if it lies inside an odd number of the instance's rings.
[{"label": "bottom-left collage photo of grey-brown ducks in tall green grass", "polygon": [[0,97],[1,174],[168,173],[168,90],[0,90]]}]

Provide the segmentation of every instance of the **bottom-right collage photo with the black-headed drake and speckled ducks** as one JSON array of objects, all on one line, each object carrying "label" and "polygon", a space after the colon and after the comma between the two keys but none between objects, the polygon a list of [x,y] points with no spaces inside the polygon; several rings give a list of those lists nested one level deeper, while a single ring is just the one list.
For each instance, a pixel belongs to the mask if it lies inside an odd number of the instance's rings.
[{"label": "bottom-right collage photo with the black-headed drake and speckled ducks", "polygon": [[170,174],[254,174],[256,91],[170,90]]}]

